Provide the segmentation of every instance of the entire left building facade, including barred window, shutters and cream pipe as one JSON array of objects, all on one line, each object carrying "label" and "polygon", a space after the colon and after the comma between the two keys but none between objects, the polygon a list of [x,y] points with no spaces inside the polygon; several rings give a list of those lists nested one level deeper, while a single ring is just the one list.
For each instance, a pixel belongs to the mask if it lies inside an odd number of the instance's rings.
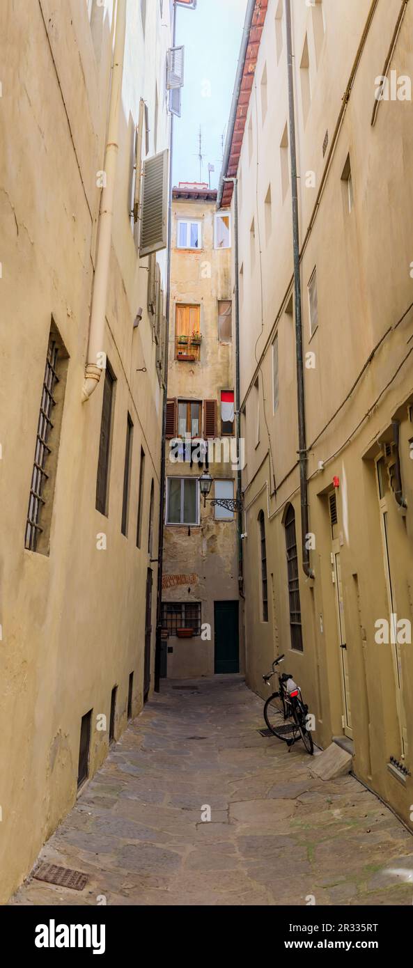
[{"label": "entire left building facade, including barred window, shutters and cream pipe", "polygon": [[172,15],[1,5],[3,900],[152,688]]}]

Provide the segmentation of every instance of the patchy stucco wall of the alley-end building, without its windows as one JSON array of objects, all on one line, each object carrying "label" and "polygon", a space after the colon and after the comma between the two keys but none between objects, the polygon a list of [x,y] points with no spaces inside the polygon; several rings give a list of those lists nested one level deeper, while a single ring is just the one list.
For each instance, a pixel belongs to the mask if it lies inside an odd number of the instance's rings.
[{"label": "patchy stucco wall of the alley-end building, without its windows", "polygon": [[[184,400],[217,400],[220,414],[221,389],[234,386],[232,343],[221,343],[218,330],[218,300],[231,299],[230,249],[214,248],[214,215],[216,204],[208,201],[173,201],[171,310],[169,324],[168,398]],[[202,222],[202,249],[179,250],[176,247],[178,219]],[[202,343],[198,362],[175,359],[176,305],[200,305]],[[220,426],[220,420],[218,421]],[[220,430],[218,430],[220,435]],[[195,464],[170,460],[166,441],[166,476],[199,477],[202,469]],[[222,451],[223,455],[223,451]],[[231,463],[210,464],[212,477],[235,480]],[[236,482],[234,483],[234,496]],[[211,491],[214,497],[214,486]],[[189,530],[191,533],[189,533]],[[196,576],[196,581],[171,587],[171,575]],[[202,623],[211,628],[211,638],[167,641],[167,675],[171,678],[194,678],[214,675],[214,601],[238,600],[237,525],[234,521],[216,521],[214,510],[201,500],[200,524],[167,525],[163,540],[163,576],[166,587],[162,601],[201,602]],[[242,661],[242,642],[240,653]]]}]

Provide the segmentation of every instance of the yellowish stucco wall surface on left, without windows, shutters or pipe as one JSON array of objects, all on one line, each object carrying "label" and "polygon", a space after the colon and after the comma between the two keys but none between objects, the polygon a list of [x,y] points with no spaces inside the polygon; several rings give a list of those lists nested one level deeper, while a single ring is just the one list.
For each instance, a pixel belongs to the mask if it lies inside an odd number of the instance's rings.
[{"label": "yellowish stucco wall surface on left, without windows, shutters or pipe", "polygon": [[[95,509],[103,379],[81,403],[96,258],[111,61],[112,3],[92,25],[79,0],[5,0],[1,185],[1,704],[0,897],[30,870],[76,795],[81,716],[92,710],[89,773],[142,706],[151,480],[159,508],[162,393],[146,311],[147,259],[130,221],[133,137],[140,96],[149,105],[150,154],[167,145],[162,71],[170,31],[158,5],[128,3],[110,277],[103,349],[116,376],[107,517]],[[164,5],[163,22],[168,5]],[[164,254],[160,257],[165,265]],[[138,306],[144,314],[137,330]],[[48,556],[24,532],[50,319],[69,353]],[[136,373],[146,367],[145,374]],[[127,413],[133,419],[128,537],[121,534]],[[136,548],[140,446],[146,455],[141,549]],[[155,534],[157,533],[157,510]],[[98,550],[104,532],[106,550]],[[152,557],[157,557],[156,547]],[[156,567],[156,566],[155,566]],[[154,571],[154,583],[157,572]],[[155,595],[153,627],[155,628]],[[97,729],[97,716],[107,729]]]}]

